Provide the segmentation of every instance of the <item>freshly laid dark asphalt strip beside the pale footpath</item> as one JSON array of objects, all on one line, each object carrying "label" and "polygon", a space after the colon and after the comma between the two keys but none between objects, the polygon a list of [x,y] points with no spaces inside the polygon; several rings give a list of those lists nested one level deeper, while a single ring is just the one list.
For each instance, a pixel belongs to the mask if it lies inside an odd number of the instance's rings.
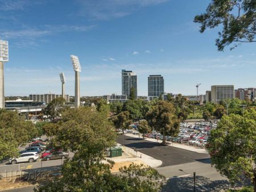
[{"label": "freshly laid dark asphalt strip beside the pale footpath", "polygon": [[207,154],[191,152],[171,146],[163,146],[159,143],[123,135],[118,137],[117,143],[161,160],[163,162],[162,166],[186,164],[195,161],[205,162],[209,161],[210,158]]}]

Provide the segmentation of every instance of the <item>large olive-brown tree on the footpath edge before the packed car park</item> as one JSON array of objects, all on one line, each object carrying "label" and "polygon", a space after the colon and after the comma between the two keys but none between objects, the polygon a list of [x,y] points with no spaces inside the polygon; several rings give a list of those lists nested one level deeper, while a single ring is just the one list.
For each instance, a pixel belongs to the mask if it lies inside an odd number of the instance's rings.
[{"label": "large olive-brown tree on the footpath edge before the packed car park", "polygon": [[152,128],[162,133],[163,144],[166,144],[167,135],[176,136],[179,133],[180,119],[170,102],[159,101],[147,112],[146,119]]}]

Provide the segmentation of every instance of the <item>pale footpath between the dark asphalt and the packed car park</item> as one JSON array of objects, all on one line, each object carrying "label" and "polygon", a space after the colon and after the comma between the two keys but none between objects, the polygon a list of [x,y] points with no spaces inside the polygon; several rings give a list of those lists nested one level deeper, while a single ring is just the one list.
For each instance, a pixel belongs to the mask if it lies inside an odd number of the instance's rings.
[{"label": "pale footpath between the dark asphalt and the packed car park", "polygon": [[[135,138],[143,139],[142,136],[134,135],[132,133],[126,133],[125,135],[129,136],[129,137],[135,137]],[[147,137],[145,137],[144,140],[151,141],[151,142],[162,143],[162,140],[156,140],[156,139],[151,139],[151,138],[147,138]],[[168,144],[168,142],[167,142],[167,144]],[[187,150],[187,151],[208,154],[208,152],[204,148],[194,147],[194,146],[191,146],[191,145],[185,145],[185,144],[179,144],[179,143],[170,143],[168,145],[171,146],[171,147],[176,147],[176,148],[184,149],[184,150]]]}]

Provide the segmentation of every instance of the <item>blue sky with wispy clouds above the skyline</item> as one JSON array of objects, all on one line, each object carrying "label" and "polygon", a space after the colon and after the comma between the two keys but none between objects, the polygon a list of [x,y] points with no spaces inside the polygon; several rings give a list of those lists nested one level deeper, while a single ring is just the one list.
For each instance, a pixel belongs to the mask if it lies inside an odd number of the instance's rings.
[{"label": "blue sky with wispy clouds above the skyline", "polygon": [[121,94],[121,70],[162,74],[165,91],[204,94],[211,85],[256,87],[255,44],[218,52],[218,30],[198,31],[206,0],[0,0],[0,39],[9,41],[5,94],[74,95],[70,55],[79,56],[81,95]]}]

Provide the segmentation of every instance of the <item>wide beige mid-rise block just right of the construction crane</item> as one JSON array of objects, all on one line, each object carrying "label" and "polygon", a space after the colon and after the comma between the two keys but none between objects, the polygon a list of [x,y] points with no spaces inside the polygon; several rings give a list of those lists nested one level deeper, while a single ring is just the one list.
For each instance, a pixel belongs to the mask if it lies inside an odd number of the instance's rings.
[{"label": "wide beige mid-rise block just right of the construction crane", "polygon": [[213,85],[211,90],[212,102],[234,98],[234,85]]}]

